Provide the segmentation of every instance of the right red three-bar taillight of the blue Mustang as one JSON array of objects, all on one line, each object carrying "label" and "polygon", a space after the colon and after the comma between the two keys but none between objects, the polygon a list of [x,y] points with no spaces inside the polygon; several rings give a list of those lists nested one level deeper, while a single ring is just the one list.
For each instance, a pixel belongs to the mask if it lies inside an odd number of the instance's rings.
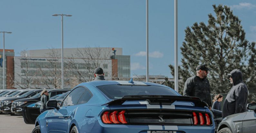
[{"label": "right red three-bar taillight of the blue Mustang", "polygon": [[192,112],[192,114],[194,125],[211,125],[211,115],[208,113]]}]

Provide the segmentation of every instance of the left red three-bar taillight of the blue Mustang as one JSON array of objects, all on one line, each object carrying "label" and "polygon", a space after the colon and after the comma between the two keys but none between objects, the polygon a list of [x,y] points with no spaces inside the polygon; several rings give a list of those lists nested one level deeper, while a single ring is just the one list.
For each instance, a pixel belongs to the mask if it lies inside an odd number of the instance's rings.
[{"label": "left red three-bar taillight of the blue Mustang", "polygon": [[105,124],[126,124],[125,111],[107,111],[101,116],[101,120]]}]

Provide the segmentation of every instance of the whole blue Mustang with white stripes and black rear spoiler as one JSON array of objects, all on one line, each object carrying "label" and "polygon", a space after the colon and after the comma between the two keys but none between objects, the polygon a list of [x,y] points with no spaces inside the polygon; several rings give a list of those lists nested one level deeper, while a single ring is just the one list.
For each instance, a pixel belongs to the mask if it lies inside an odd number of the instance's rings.
[{"label": "whole blue Mustang with white stripes and black rear spoiler", "polygon": [[214,133],[208,105],[170,87],[136,81],[76,86],[39,115],[32,133]]}]

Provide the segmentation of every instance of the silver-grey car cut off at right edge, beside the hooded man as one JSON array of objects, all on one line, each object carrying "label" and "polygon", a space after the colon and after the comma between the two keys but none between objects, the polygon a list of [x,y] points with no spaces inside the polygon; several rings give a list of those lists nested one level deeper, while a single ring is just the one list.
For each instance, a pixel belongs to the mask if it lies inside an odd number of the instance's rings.
[{"label": "silver-grey car cut off at right edge, beside the hooded man", "polygon": [[225,117],[218,126],[218,133],[255,133],[256,104],[248,104],[248,112]]}]

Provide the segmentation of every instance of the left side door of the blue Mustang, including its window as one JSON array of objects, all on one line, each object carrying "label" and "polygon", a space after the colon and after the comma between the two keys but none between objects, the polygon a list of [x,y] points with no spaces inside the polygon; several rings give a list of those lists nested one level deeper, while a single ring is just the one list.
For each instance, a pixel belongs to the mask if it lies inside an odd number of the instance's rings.
[{"label": "left side door of the blue Mustang, including its window", "polygon": [[74,117],[77,103],[85,88],[77,87],[63,100],[60,109],[54,109],[47,119],[49,133],[67,133],[69,123]]}]

